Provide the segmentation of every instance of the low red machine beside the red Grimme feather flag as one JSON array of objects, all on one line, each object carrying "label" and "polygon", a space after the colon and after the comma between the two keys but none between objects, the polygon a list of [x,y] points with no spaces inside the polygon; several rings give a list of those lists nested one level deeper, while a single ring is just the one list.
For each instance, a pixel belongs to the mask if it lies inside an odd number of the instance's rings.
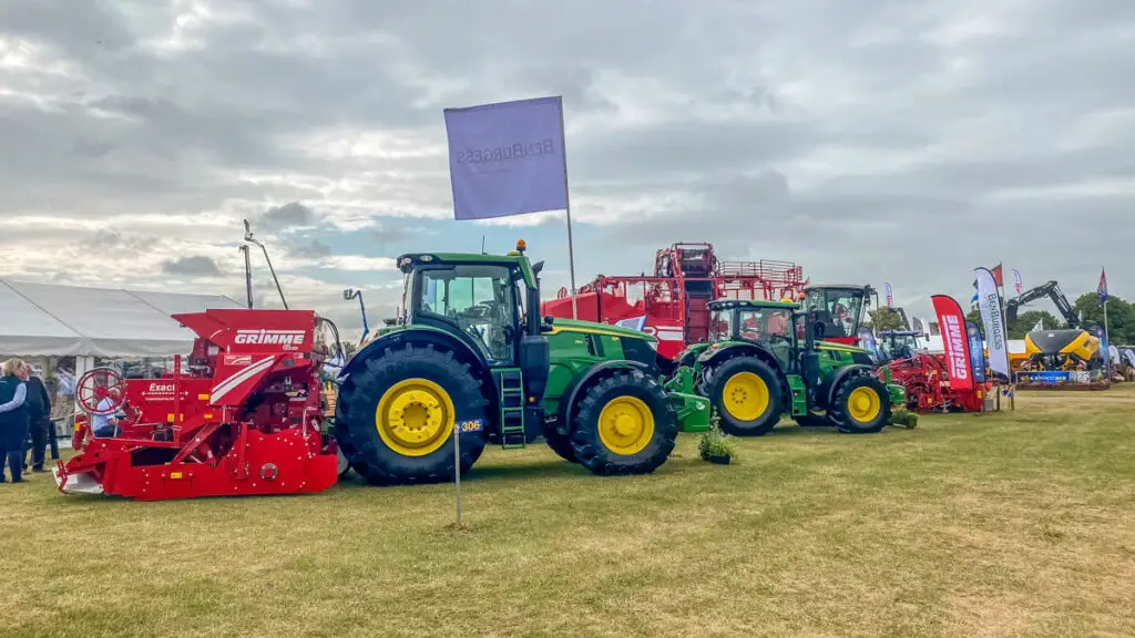
[{"label": "low red machine beside the red Grimme feather flag", "polygon": [[878,334],[881,363],[891,370],[891,383],[907,391],[907,409],[911,412],[931,411],[980,412],[984,393],[990,384],[977,384],[969,391],[950,387],[945,354],[931,354],[918,347],[918,333],[884,330]]}]

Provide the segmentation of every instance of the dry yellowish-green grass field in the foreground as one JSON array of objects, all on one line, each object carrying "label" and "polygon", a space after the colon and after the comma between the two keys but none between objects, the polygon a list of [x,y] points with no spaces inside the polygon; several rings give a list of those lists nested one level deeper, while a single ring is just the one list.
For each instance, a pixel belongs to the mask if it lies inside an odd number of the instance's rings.
[{"label": "dry yellowish-green grass field in the foreground", "polygon": [[0,636],[1135,636],[1135,388],[592,477],[131,503],[0,486]]}]

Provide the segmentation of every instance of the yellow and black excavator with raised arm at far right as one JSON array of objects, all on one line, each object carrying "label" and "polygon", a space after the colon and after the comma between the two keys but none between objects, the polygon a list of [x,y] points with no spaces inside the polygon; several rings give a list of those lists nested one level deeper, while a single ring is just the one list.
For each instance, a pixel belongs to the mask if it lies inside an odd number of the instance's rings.
[{"label": "yellow and black excavator with raised arm at far right", "polygon": [[1017,319],[1017,311],[1022,305],[1044,297],[1052,300],[1068,327],[1026,334],[1025,354],[1010,362],[1012,368],[1017,369],[1026,361],[1042,370],[1075,370],[1082,366],[1088,370],[1100,368],[1102,359],[1099,337],[1084,326],[1056,282],[1046,282],[1009,300],[1006,303],[1006,318],[1011,324]]}]

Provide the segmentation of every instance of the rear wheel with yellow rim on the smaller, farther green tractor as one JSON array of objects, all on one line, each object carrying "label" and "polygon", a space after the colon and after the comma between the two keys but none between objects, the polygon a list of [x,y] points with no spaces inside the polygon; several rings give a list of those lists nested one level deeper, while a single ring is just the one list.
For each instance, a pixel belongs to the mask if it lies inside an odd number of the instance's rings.
[{"label": "rear wheel with yellow rim on the smaller, farther green tractor", "polygon": [[780,422],[780,377],[759,359],[738,356],[714,367],[705,375],[701,391],[721,417],[725,434],[764,436]]}]

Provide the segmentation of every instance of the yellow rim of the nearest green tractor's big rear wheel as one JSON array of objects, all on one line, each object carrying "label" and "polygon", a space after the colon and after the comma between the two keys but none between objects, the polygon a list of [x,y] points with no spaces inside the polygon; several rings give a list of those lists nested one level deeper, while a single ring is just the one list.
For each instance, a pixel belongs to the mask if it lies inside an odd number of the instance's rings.
[{"label": "yellow rim of the nearest green tractor's big rear wheel", "polygon": [[403,456],[424,456],[453,431],[453,400],[429,379],[405,379],[378,400],[375,428],[382,443]]}]

